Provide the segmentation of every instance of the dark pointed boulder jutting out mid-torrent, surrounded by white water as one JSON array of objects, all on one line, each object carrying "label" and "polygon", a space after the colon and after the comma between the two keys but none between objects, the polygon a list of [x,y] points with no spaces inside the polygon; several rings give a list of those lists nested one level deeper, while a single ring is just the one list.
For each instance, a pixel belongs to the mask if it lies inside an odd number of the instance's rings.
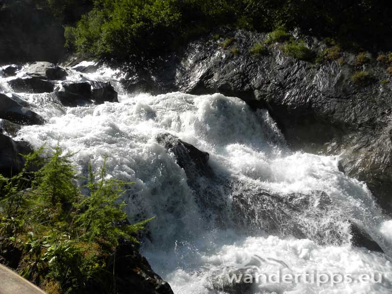
[{"label": "dark pointed boulder jutting out mid-torrent, surrounded by white water", "polygon": [[201,151],[192,144],[186,143],[169,133],[158,135],[156,141],[174,153],[177,164],[185,170],[188,176],[191,173],[196,173],[196,176],[211,176],[214,174],[208,165],[208,159],[210,158],[208,152]]}]

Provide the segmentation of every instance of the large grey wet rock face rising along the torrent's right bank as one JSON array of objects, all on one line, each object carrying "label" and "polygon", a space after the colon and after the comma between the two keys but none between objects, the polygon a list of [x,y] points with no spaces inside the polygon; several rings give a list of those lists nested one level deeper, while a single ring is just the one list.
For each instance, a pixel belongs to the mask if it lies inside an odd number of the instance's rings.
[{"label": "large grey wet rock face rising along the torrent's right bank", "polygon": [[[220,34],[218,40],[210,35],[189,44],[154,69],[128,69],[125,86],[152,93],[220,92],[268,108],[292,149],[342,154],[341,170],[365,181],[391,213],[392,83],[387,66],[371,54],[359,65],[356,55],[348,52],[341,52],[339,62],[301,61],[286,55],[279,43],[271,44],[267,55],[253,55],[249,49],[266,40],[265,34]],[[222,46],[227,38],[232,38],[231,44]],[[326,47],[316,39],[301,38],[315,53]],[[354,82],[352,74],[363,71],[368,78]]]}]

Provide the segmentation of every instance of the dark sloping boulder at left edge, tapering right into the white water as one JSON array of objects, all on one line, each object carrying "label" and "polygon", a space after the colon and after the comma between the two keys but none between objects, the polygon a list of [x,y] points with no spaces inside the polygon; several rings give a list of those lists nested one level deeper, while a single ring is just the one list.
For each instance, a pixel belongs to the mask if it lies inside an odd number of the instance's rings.
[{"label": "dark sloping boulder at left edge, tapering right into the white water", "polygon": [[28,103],[14,94],[0,93],[0,119],[18,124],[42,124],[45,120],[28,109]]}]

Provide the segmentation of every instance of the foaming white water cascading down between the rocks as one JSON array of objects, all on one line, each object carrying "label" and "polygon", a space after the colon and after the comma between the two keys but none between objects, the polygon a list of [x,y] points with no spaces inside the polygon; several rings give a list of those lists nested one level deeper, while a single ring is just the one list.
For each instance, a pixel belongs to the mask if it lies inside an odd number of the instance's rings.
[{"label": "foaming white water cascading down between the rocks", "polygon": [[[143,253],[174,293],[392,293],[392,221],[366,184],[338,170],[337,156],[290,151],[268,112],[238,98],[127,94],[119,74],[102,68],[68,77],[110,80],[119,103],[66,108],[50,94],[22,94],[48,123],[23,127],[16,140],[77,152],[82,174],[90,158],[98,169],[106,157],[108,176],[136,182],[124,195],[129,218],[156,217]],[[6,79],[0,85],[10,90]],[[174,154],[158,144],[162,133],[209,152],[216,177],[197,180],[195,191]],[[386,254],[352,247],[348,220],[364,226]],[[349,274],[352,281],[259,281],[228,292],[225,273],[255,269]],[[381,282],[358,280],[374,273]]]}]

